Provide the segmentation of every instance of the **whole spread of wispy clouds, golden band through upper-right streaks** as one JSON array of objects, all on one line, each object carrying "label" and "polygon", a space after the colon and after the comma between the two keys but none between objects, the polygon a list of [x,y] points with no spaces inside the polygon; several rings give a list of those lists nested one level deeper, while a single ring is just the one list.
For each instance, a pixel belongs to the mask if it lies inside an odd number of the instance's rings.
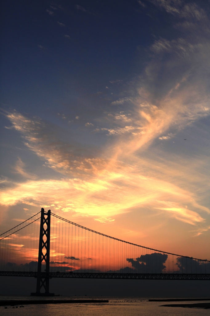
[{"label": "whole spread of wispy clouds, golden band through upper-right streaks", "polygon": [[[110,110],[98,119],[96,130],[112,137],[107,137],[106,146],[92,156],[80,155],[78,144],[59,140],[54,129],[41,119],[7,113],[27,149],[49,170],[60,174],[60,179],[13,181],[12,186],[4,186],[1,191],[3,205],[53,205],[59,214],[92,216],[98,222],[109,222],[138,208],[193,225],[199,233],[207,231],[208,157],[200,151],[196,157],[184,155],[181,150],[170,153],[163,147],[209,115],[210,42],[204,27],[207,17],[192,3],[152,2],[177,18],[174,27],[183,28],[184,22],[197,23],[202,35],[192,37],[190,28],[185,27],[187,31],[178,38],[154,40],[151,59],[135,82],[135,95],[121,94],[112,102],[120,110]],[[86,12],[82,8],[75,7]],[[84,128],[82,113],[76,119],[83,122]],[[19,172],[24,173],[20,167]]]}]

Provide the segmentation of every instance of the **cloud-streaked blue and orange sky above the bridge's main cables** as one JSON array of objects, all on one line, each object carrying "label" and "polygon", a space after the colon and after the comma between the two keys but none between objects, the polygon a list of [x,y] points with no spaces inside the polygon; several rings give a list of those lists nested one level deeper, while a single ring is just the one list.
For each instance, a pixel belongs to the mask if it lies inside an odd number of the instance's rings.
[{"label": "cloud-streaked blue and orange sky above the bridge's main cables", "polygon": [[210,259],[209,1],[3,1],[3,233],[44,207]]}]

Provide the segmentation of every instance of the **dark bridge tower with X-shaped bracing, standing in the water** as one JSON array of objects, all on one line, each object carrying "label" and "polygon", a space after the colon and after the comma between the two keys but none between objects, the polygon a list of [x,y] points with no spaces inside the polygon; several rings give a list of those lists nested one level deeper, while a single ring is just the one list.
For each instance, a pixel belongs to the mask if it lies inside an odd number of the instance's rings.
[{"label": "dark bridge tower with X-shaped bracing, standing in the water", "polygon": [[[39,233],[39,252],[38,252],[38,268],[37,268],[37,289],[33,296],[54,296],[49,291],[49,273],[50,273],[50,210],[47,212],[41,209],[40,233]],[[45,261],[46,269],[42,276],[42,262]],[[44,288],[45,293],[41,293]]]}]

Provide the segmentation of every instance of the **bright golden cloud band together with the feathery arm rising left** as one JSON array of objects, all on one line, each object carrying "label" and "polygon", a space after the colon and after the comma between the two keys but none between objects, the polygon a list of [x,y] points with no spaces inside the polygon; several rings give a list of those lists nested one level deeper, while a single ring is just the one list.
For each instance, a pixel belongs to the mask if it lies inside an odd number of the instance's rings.
[{"label": "bright golden cloud band together with the feathery arm rising left", "polygon": [[[181,188],[180,181],[174,176],[177,167],[180,169],[178,163],[177,166],[171,164],[167,168],[166,161],[161,165],[157,160],[139,159],[135,155],[131,155],[128,160],[125,151],[121,154],[117,152],[116,156],[115,148],[106,161],[97,157],[94,160],[81,160],[73,153],[73,156],[69,155],[65,146],[55,140],[52,142],[52,135],[47,135],[46,132],[50,129],[43,122],[41,124],[39,119],[27,119],[17,112],[7,115],[15,130],[24,136],[25,144],[30,150],[57,172],[77,174],[77,178],[13,183],[12,188],[1,192],[2,204],[53,204],[57,212],[86,214],[95,218],[98,216],[99,222],[102,217],[111,218],[128,212],[133,207],[149,206],[154,211],[164,211],[169,217],[191,225],[204,222],[199,213],[208,213],[209,210],[196,202],[195,193]],[[127,149],[127,144],[121,143],[121,150],[123,146]],[[124,159],[126,162],[123,162]],[[92,168],[88,179],[85,176],[87,164]],[[144,170],[150,170],[151,173]],[[182,172],[179,177],[186,178],[189,174],[187,180],[195,179],[192,170],[183,168]],[[197,175],[197,181],[200,181],[201,178]]]}]

